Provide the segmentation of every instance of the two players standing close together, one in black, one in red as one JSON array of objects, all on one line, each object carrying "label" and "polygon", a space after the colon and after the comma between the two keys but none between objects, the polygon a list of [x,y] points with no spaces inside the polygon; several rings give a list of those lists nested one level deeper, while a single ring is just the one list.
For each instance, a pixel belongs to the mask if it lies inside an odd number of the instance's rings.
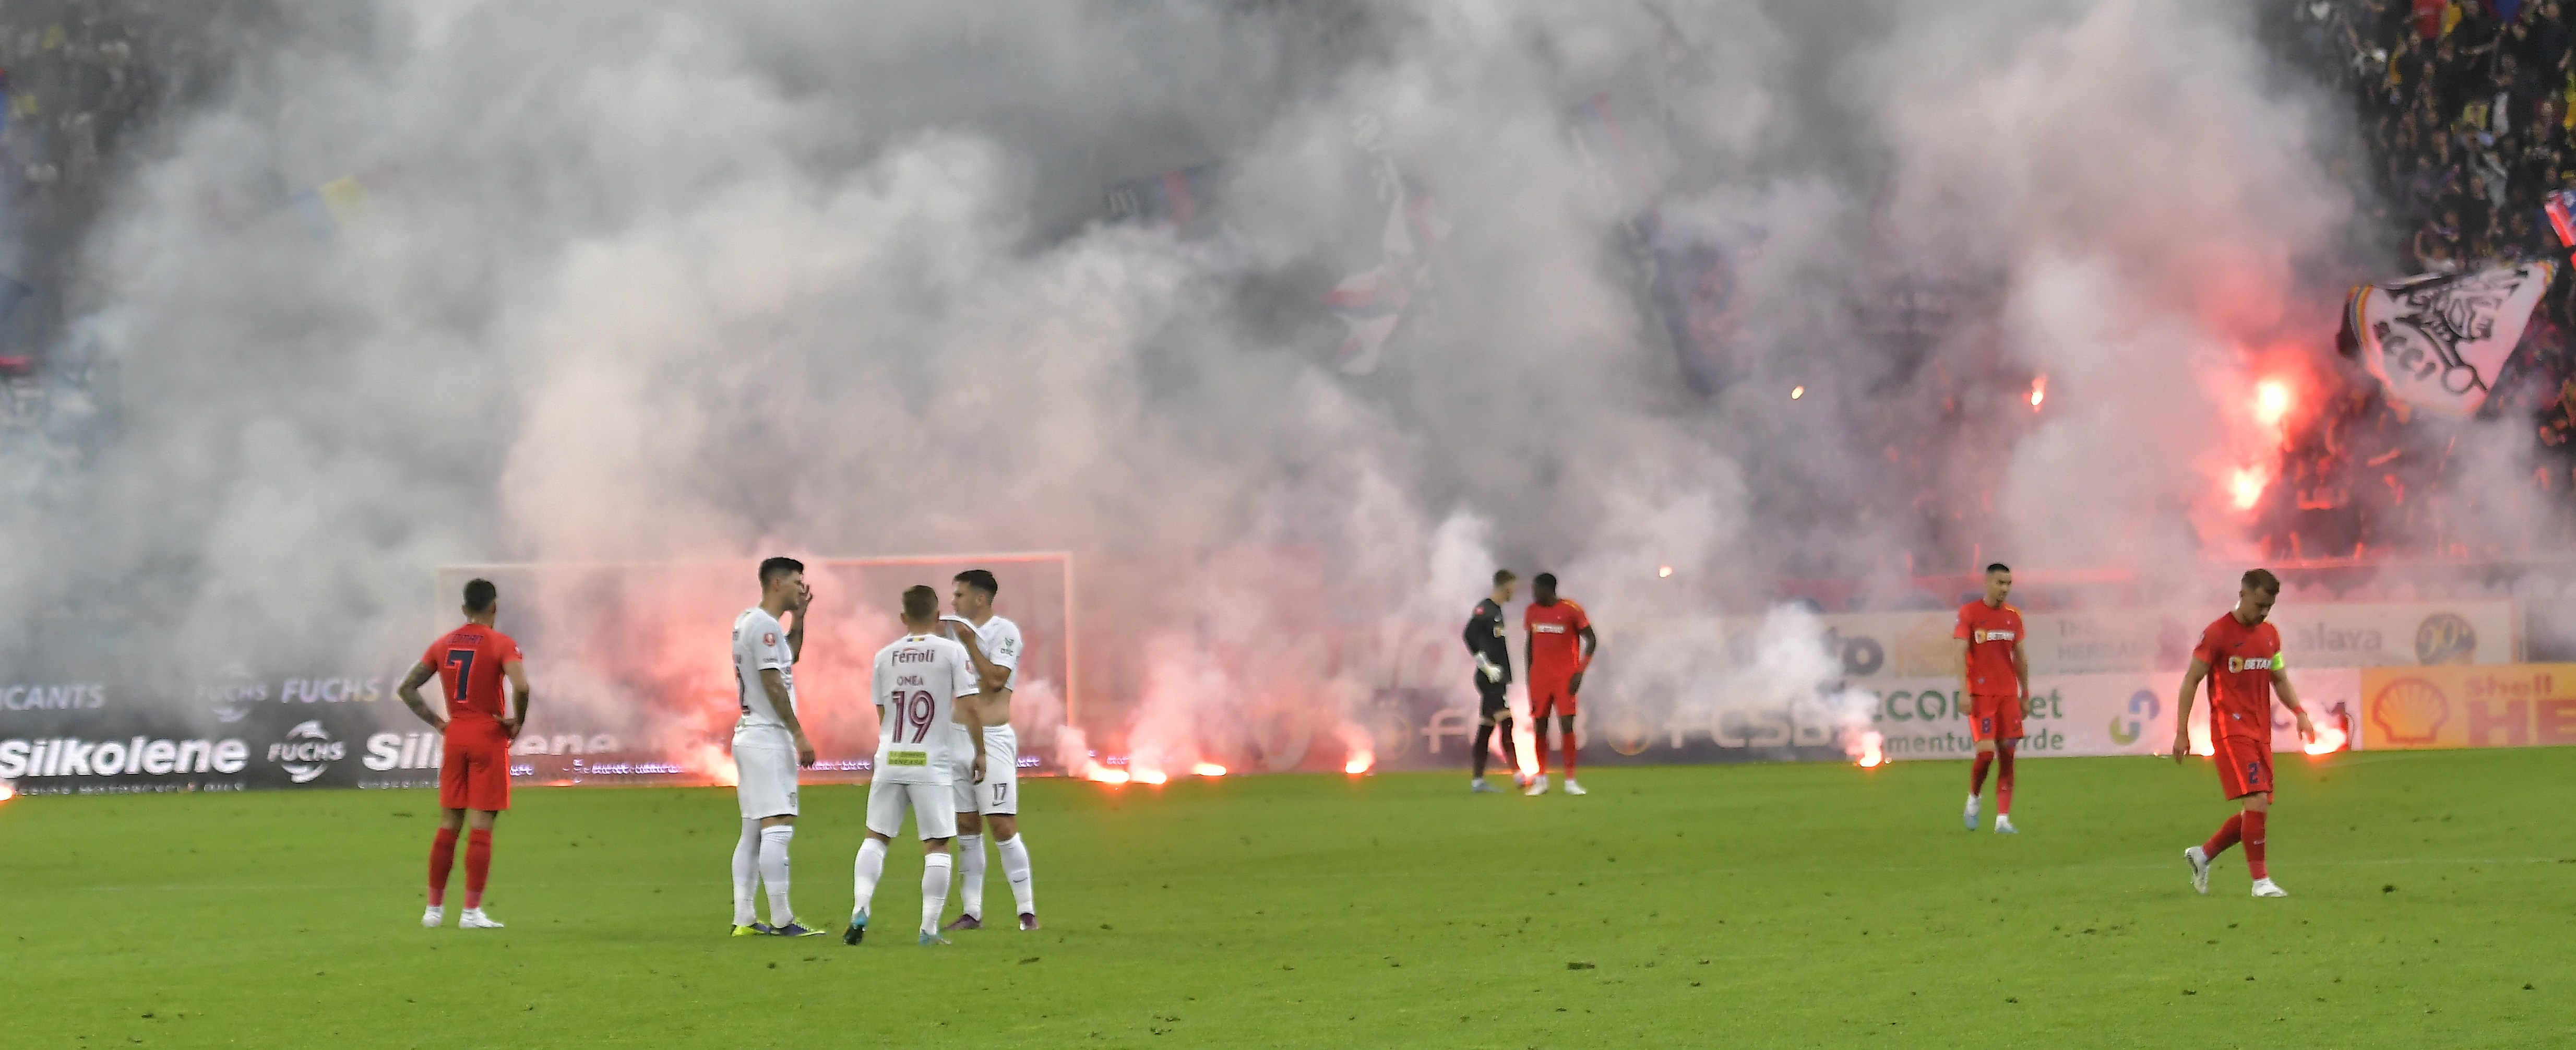
[{"label": "two players standing close together, one in black, one in red", "polygon": [[1520,746],[1512,741],[1512,705],[1507,700],[1512,685],[1512,649],[1504,641],[1502,607],[1512,600],[1512,584],[1520,582],[1510,569],[1494,571],[1494,592],[1476,602],[1476,610],[1466,620],[1466,651],[1476,659],[1476,775],[1468,780],[1473,793],[1494,793],[1497,788],[1484,782],[1484,762],[1494,749],[1494,733],[1502,733],[1502,762],[1512,764],[1512,782],[1528,788],[1528,795],[1548,793],[1548,715],[1556,715],[1556,726],[1564,731],[1566,741],[1566,795],[1582,795],[1584,785],[1574,780],[1574,697],[1584,687],[1584,669],[1592,667],[1592,656],[1600,651],[1600,636],[1592,633],[1592,618],[1574,600],[1556,597],[1556,574],[1538,574],[1530,582],[1530,607],[1522,610],[1522,659],[1530,667],[1530,733],[1535,736],[1533,759],[1538,764],[1535,775],[1520,772]]}]

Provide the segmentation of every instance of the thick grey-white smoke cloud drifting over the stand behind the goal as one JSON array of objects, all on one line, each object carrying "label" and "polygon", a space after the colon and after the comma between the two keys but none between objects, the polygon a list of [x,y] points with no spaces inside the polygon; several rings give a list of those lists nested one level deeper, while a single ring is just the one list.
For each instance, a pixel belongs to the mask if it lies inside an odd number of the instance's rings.
[{"label": "thick grey-white smoke cloud drifting over the stand behind the goal", "polygon": [[121,425],[0,602],[95,628],[26,659],[404,659],[440,564],[1074,551],[1097,726],[1182,769],[1497,564],[1613,641],[1976,556],[2223,587],[2349,219],[2215,0],[276,26],[80,255]]}]

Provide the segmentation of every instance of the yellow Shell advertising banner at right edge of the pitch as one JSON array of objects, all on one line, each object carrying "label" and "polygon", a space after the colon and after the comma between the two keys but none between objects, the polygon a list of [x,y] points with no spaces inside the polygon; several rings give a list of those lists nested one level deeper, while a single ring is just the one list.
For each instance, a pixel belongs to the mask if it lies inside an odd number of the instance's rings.
[{"label": "yellow Shell advertising banner at right edge of the pitch", "polygon": [[2365,667],[2375,749],[2576,744],[2576,664]]}]

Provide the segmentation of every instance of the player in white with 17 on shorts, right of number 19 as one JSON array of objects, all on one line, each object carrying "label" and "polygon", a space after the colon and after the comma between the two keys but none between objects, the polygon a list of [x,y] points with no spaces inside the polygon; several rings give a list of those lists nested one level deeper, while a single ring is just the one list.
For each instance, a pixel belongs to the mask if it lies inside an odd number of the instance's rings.
[{"label": "player in white with 17 on shorts, right of number 19", "polygon": [[[951,638],[971,633],[979,641],[974,697],[961,697],[958,708],[976,708],[984,723],[984,782],[958,775],[958,903],[956,921],[945,929],[984,929],[984,824],[992,824],[992,844],[1002,849],[1002,878],[1010,880],[1012,908],[1020,929],[1038,929],[1038,890],[1028,875],[1028,842],[1020,839],[1020,733],[1010,728],[1010,690],[1020,679],[1020,625],[992,615],[992,597],[1002,584],[992,571],[969,569],[956,576],[945,618]],[[966,726],[956,728],[958,749],[948,757],[963,769]]]}]

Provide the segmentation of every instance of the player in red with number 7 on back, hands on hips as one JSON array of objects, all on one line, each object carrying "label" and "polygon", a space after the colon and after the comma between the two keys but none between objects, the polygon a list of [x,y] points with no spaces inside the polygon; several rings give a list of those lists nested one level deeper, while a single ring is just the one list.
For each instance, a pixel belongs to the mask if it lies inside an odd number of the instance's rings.
[{"label": "player in red with number 7 on back, hands on hips", "polygon": [[[448,870],[456,867],[456,831],[466,834],[466,911],[456,916],[459,929],[500,929],[484,916],[482,890],[492,875],[492,821],[510,808],[510,741],[528,721],[528,672],[520,667],[518,643],[492,628],[500,612],[500,592],[489,579],[466,584],[466,625],[448,631],[430,643],[412,672],[394,690],[420,721],[438,726],[446,739],[438,762],[438,839],[430,842],[430,908],[420,914],[422,926],[446,919]],[[430,710],[420,700],[420,687],[438,677],[446,700]],[[510,679],[518,705],[507,703],[500,682]]]}]

